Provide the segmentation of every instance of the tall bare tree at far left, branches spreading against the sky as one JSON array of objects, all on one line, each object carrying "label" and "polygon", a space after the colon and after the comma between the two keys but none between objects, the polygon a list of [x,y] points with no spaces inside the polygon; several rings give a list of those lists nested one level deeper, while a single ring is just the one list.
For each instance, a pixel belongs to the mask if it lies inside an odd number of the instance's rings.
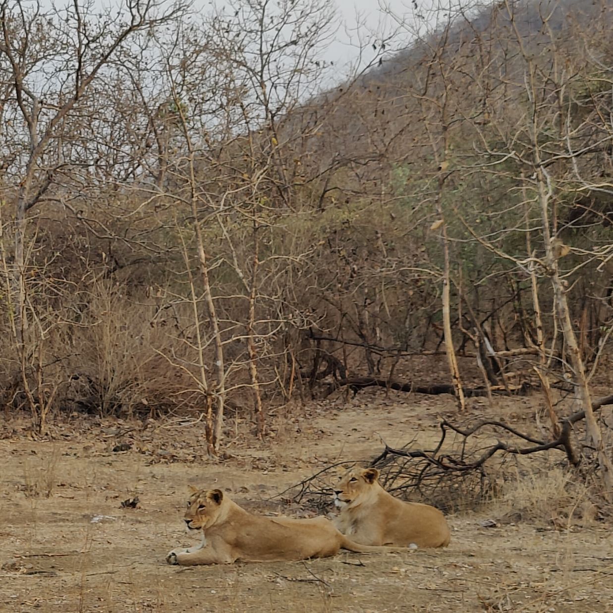
[{"label": "tall bare tree at far left, branches spreading against the sky", "polygon": [[[44,204],[69,197],[65,181],[75,170],[78,175],[96,166],[90,147],[84,145],[82,118],[96,115],[90,94],[97,80],[104,78],[118,51],[130,45],[137,32],[154,31],[180,18],[185,6],[136,1],[119,13],[107,8],[99,14],[91,3],[44,9],[40,3],[4,0],[0,13],[2,132],[10,144],[10,150],[3,151],[1,187],[15,211],[9,303],[14,305],[13,330],[23,364],[31,351],[25,345],[29,224]],[[21,370],[27,387],[27,369]],[[31,395],[28,398],[33,414],[43,411]],[[41,428],[42,421],[37,423]]]}]

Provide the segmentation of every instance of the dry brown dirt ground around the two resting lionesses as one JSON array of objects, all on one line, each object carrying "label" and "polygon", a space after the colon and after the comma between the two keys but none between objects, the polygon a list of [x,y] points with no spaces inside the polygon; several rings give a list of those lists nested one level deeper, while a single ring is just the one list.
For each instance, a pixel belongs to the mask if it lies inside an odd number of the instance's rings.
[{"label": "dry brown dirt ground around the two resting lionesses", "polygon": [[[503,408],[510,422],[525,425],[536,402],[507,400]],[[487,407],[474,400],[470,409]],[[172,547],[192,544],[181,527],[188,483],[215,485],[272,512],[269,498],[316,470],[373,457],[382,438],[390,446],[414,436],[427,444],[437,415],[452,413],[449,397],[365,391],[346,404],[278,411],[276,436],[265,444],[230,419],[235,440],[218,462],[205,456],[202,424],[73,416],[34,441],[25,419],[5,421],[0,610],[613,611],[610,525],[482,527],[504,511],[496,502],[449,516],[445,550],[195,568],[164,562]],[[131,449],[113,451],[121,443]],[[135,497],[137,508],[122,508]]]}]

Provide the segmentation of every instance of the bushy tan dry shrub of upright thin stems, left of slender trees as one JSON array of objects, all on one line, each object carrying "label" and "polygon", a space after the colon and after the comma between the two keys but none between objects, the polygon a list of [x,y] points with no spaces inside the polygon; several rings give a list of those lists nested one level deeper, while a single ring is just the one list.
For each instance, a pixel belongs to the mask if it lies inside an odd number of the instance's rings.
[{"label": "bushy tan dry shrub of upright thin stems, left of slender trees", "polygon": [[89,294],[87,324],[75,335],[79,360],[71,369],[72,381],[89,396],[72,402],[128,416],[181,406],[183,393],[194,385],[178,322],[159,318],[156,305],[131,299],[115,284],[99,283]]}]

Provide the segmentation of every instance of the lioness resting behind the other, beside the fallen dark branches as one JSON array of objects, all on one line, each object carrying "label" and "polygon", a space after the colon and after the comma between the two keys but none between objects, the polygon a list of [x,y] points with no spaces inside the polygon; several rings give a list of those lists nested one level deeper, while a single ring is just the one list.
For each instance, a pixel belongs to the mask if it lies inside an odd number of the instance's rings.
[{"label": "lioness resting behind the other, beside the fallen dark branches", "polygon": [[404,502],[379,485],[376,468],[354,468],[340,478],[334,525],[356,543],[446,547],[450,533],[443,514],[428,504]]}]

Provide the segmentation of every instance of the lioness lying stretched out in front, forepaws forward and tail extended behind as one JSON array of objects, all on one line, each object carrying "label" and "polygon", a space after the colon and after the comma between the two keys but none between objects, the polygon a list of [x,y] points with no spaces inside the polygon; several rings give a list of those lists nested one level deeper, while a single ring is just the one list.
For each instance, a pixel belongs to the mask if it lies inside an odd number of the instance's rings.
[{"label": "lioness lying stretched out in front, forepaws forward and tail extended behind", "polygon": [[231,564],[280,562],[335,555],[339,549],[359,553],[394,552],[390,547],[359,545],[342,535],[326,517],[290,519],[252,515],[221,490],[189,488],[185,512],[189,531],[202,531],[202,543],[173,549],[169,564]]}]

